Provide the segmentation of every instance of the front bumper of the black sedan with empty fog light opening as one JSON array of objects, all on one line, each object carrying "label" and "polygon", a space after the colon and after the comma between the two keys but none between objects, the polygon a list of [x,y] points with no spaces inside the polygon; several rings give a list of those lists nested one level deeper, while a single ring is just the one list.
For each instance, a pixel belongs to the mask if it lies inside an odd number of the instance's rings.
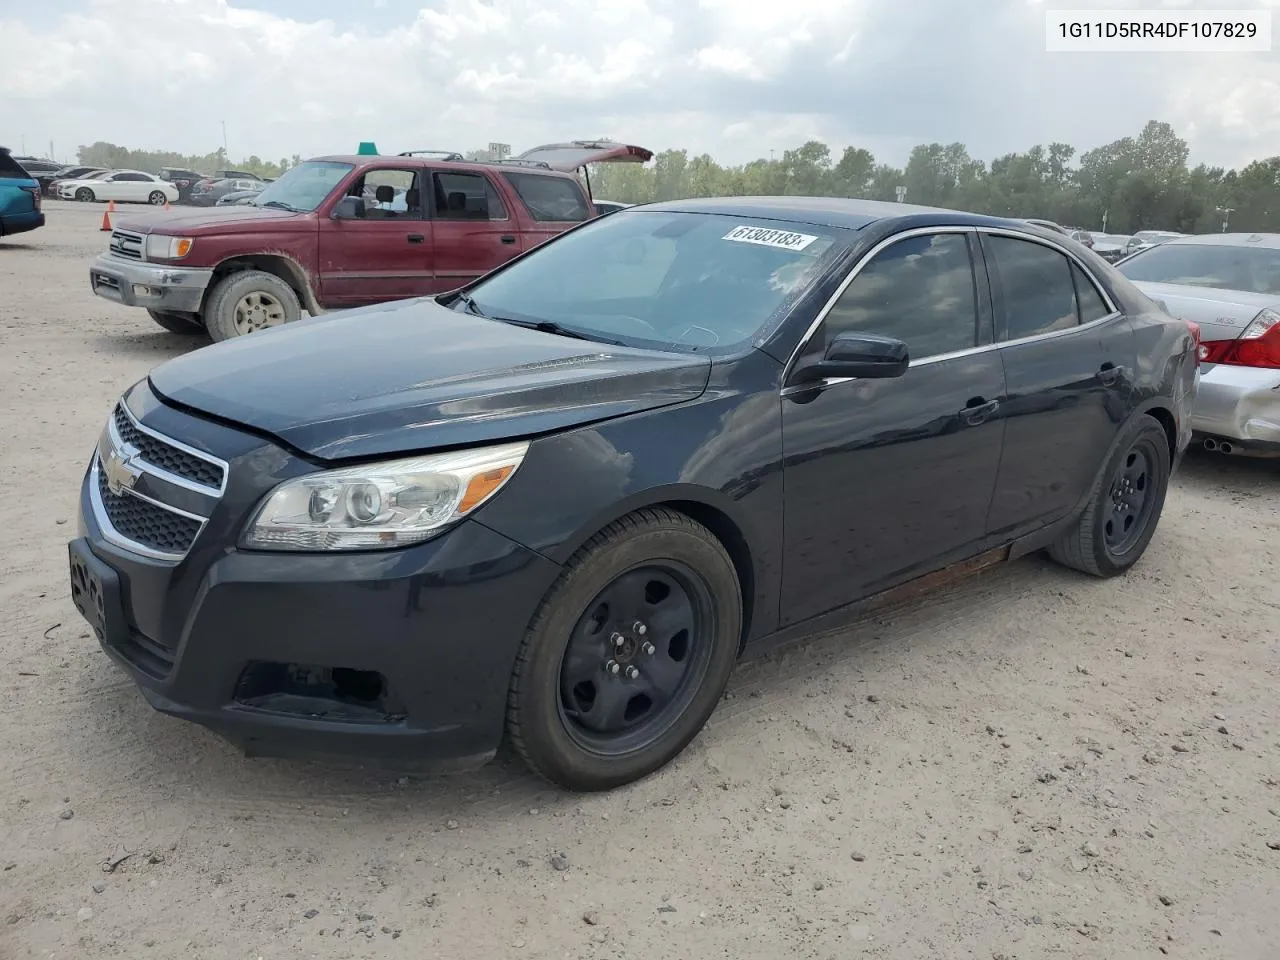
[{"label": "front bumper of the black sedan with empty fog light opening", "polygon": [[[192,420],[161,410],[170,424]],[[207,425],[206,435],[218,431],[227,429]],[[104,530],[86,476],[72,593],[102,649],[154,708],[250,755],[445,765],[492,756],[516,652],[559,567],[475,521],[402,550],[239,550],[261,492],[237,492],[237,467],[288,457],[239,443],[257,449],[225,457],[223,502],[175,563]]]}]

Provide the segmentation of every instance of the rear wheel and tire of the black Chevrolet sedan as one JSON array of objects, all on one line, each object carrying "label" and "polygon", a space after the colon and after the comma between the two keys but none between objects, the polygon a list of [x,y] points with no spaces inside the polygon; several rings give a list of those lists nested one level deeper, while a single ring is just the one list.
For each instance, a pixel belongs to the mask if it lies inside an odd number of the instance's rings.
[{"label": "rear wheel and tire of the black Chevrolet sedan", "polygon": [[[1135,484],[1130,477],[1125,488],[1123,479],[1126,471],[1133,474],[1138,468],[1143,471],[1144,483]],[[1096,577],[1114,577],[1128,571],[1146,553],[1147,544],[1156,532],[1169,490],[1169,438],[1165,428],[1155,417],[1143,413],[1125,428],[1079,522],[1050,547],[1050,557],[1065,567]],[[1126,489],[1130,493],[1125,493]],[[1138,507],[1132,507],[1133,492],[1143,494]],[[1130,503],[1130,508],[1123,515],[1114,509],[1117,497]],[[1126,526],[1124,517],[1132,517],[1133,524]]]}]

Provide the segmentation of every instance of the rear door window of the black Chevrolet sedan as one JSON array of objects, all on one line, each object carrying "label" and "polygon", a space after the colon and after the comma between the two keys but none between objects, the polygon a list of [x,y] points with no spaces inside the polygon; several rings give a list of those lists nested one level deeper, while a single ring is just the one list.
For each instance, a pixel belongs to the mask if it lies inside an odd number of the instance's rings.
[{"label": "rear door window of the black Chevrolet sedan", "polygon": [[1019,340],[1079,324],[1071,261],[1052,247],[1012,237],[983,237],[1005,316],[1004,339]]}]

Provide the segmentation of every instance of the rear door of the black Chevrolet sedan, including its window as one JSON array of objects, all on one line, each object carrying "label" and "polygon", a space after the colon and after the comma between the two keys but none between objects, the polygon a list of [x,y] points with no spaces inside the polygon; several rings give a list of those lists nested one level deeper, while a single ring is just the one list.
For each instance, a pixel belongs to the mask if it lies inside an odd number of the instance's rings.
[{"label": "rear door of the black Chevrolet sedan, including its window", "polygon": [[1129,320],[1057,247],[980,236],[1009,389],[988,524],[1014,538],[1089,493],[1124,419],[1137,357]]}]

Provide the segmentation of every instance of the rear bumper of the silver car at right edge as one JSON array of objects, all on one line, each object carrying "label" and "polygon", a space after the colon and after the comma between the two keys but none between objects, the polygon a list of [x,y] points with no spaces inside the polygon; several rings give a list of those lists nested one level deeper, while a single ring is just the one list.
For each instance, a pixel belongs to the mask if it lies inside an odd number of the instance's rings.
[{"label": "rear bumper of the silver car at right edge", "polygon": [[1280,370],[1202,364],[1192,430],[1244,445],[1280,444]]}]

